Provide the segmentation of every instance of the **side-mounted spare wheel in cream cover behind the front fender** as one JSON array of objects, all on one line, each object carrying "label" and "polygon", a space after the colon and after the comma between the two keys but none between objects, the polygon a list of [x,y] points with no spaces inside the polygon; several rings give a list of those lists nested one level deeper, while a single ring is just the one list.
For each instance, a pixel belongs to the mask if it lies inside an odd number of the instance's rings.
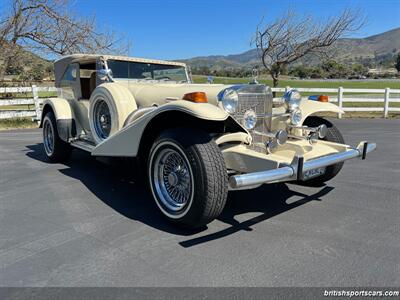
[{"label": "side-mounted spare wheel in cream cover behind the front fender", "polygon": [[118,132],[127,116],[137,109],[129,90],[118,83],[104,83],[90,96],[89,124],[96,144]]}]

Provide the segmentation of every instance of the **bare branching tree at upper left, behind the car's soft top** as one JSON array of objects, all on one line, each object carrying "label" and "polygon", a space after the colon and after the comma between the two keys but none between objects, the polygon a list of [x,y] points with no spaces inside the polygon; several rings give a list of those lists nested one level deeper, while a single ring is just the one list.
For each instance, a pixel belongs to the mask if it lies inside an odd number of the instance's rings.
[{"label": "bare branching tree at upper left, behind the car's soft top", "polygon": [[[0,58],[3,72],[18,62],[21,49],[35,53],[125,53],[129,45],[114,32],[101,32],[92,17],[78,17],[69,0],[12,0],[0,16]],[[1,67],[0,67],[1,68]],[[2,75],[0,69],[0,76]]]}]

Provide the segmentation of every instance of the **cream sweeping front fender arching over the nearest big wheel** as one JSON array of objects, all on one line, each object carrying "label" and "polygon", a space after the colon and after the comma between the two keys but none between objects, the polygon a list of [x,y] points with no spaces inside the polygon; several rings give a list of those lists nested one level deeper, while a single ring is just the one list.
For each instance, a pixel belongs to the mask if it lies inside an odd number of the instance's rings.
[{"label": "cream sweeping front fender arching over the nearest big wheel", "polygon": [[[176,112],[200,121],[225,122],[228,118],[231,119],[228,113],[215,105],[176,100],[145,113],[136,120],[132,120],[131,123],[127,124],[119,132],[97,145],[96,148],[93,149],[92,155],[137,156],[142,142],[142,136],[146,135],[144,132],[148,126],[151,126],[150,123],[157,118],[161,119],[162,116],[162,119],[165,121],[162,127],[167,129],[170,125],[169,123],[175,121],[172,117],[176,117],[174,114]],[[168,122],[168,120],[171,120],[171,122]],[[189,126],[190,124],[186,125]]]}]

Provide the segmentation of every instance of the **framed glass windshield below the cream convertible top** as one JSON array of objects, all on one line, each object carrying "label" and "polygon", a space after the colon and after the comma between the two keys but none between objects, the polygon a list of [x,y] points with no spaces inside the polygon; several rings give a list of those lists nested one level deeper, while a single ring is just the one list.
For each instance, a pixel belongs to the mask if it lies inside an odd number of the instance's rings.
[{"label": "framed glass windshield below the cream convertible top", "polygon": [[108,60],[107,64],[113,78],[188,82],[185,67],[182,66],[122,60]]}]

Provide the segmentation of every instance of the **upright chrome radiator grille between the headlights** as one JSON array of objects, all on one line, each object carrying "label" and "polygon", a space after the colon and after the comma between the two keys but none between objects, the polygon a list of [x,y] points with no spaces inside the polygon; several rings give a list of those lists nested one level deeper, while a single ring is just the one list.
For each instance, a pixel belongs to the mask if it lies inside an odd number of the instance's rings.
[{"label": "upright chrome radiator grille between the headlights", "polygon": [[257,115],[257,123],[254,129],[249,130],[253,142],[249,148],[265,152],[265,142],[268,137],[258,133],[267,133],[271,131],[272,115],[272,93],[269,88],[261,84],[245,85],[237,90],[239,96],[239,106],[232,116],[243,124],[244,113],[247,110],[253,110]]}]

